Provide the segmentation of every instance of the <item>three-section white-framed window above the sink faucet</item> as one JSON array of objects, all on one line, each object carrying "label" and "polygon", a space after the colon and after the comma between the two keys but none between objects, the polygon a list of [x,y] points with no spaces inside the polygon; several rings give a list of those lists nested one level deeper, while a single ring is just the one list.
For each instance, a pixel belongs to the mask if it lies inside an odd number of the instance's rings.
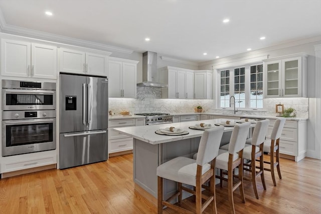
[{"label": "three-section white-framed window above the sink faucet", "polygon": [[[263,65],[247,65],[220,70],[220,108],[263,108]],[[233,106],[232,106],[233,107]]]}]

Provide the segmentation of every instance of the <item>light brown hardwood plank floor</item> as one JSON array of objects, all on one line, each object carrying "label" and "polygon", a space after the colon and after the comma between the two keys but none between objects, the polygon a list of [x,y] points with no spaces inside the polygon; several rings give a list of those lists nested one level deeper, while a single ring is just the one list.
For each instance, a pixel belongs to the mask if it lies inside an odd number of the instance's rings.
[{"label": "light brown hardwood plank floor", "polygon": [[[280,159],[282,179],[276,179],[276,186],[268,171],[264,172],[265,191],[257,179],[260,199],[249,181],[244,181],[245,204],[239,190],[235,191],[237,213],[321,213],[321,160]],[[227,186],[217,185],[216,195],[218,212],[228,213]],[[190,207],[191,201],[184,200],[182,206]],[[209,206],[204,213],[211,210]],[[157,213],[157,209],[135,192],[132,154],[125,154],[64,170],[3,178],[0,213]],[[167,208],[164,213],[175,212]]]}]

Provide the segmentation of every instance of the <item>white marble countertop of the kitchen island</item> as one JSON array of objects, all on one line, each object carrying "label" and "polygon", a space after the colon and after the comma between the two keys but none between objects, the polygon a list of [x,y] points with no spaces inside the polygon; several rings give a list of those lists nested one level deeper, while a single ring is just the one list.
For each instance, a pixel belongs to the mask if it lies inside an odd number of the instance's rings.
[{"label": "white marble countertop of the kitchen island", "polygon": [[[221,120],[226,121],[226,119],[200,120],[200,121],[188,121],[188,122],[181,122],[181,123],[167,123],[167,124],[158,124],[158,125],[114,128],[113,130],[150,144],[159,144],[159,143],[167,143],[171,141],[201,137],[203,134],[203,130],[190,129],[189,127],[195,126],[195,124],[197,123],[212,124],[212,126],[215,126],[214,124],[220,123]],[[170,126],[188,131],[189,134],[170,136],[170,135],[160,135],[155,133],[155,131],[158,129],[164,129]],[[252,124],[251,126],[254,127],[255,124]],[[224,132],[232,131],[233,128],[234,127],[225,127]]]}]

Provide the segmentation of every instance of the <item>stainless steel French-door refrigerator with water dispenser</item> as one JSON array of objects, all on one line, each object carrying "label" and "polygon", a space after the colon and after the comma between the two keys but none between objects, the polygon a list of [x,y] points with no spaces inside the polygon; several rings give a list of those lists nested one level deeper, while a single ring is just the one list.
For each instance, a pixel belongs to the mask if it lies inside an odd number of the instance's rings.
[{"label": "stainless steel French-door refrigerator with water dispenser", "polygon": [[60,74],[61,169],[108,158],[108,80]]}]

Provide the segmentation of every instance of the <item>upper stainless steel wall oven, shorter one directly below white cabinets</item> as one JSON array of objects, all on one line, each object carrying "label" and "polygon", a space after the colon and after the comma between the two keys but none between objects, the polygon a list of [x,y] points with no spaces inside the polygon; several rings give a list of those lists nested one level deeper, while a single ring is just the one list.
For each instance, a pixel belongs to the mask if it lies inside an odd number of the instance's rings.
[{"label": "upper stainless steel wall oven, shorter one directly below white cabinets", "polygon": [[56,109],[56,83],[2,80],[2,110]]}]

